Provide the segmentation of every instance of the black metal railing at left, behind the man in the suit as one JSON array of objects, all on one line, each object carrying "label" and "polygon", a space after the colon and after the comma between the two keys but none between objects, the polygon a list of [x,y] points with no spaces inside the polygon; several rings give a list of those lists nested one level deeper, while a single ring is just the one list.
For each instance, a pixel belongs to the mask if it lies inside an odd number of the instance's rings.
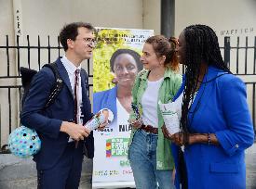
[{"label": "black metal railing at left, behind the man in the suit", "polygon": [[[53,53],[54,51],[55,53]],[[52,60],[53,54],[55,54],[54,58],[60,57],[61,51],[63,51],[63,49],[60,45],[59,38],[57,39],[57,45],[51,45],[49,36],[47,36],[47,45],[41,44],[39,36],[37,37],[36,45],[31,45],[29,36],[26,37],[25,45],[20,45],[19,36],[16,38],[16,45],[10,45],[8,36],[6,36],[6,45],[0,44],[0,55],[5,54],[5,56],[2,56],[0,59],[1,69],[3,70],[2,74],[0,73],[0,153],[6,152],[7,135],[20,125],[19,112],[22,97],[20,66],[39,70],[44,64],[55,60]],[[36,56],[36,60],[34,61],[36,64],[31,63],[33,56]],[[46,57],[47,60],[42,64],[42,59],[46,59]],[[23,59],[26,64],[22,62]],[[93,76],[89,64],[90,61],[88,60],[87,65],[83,68],[88,72],[89,81],[92,81],[90,79],[92,79]],[[11,84],[7,84],[9,82],[11,82]],[[92,94],[92,83],[89,83],[88,95],[90,94]],[[3,106],[2,104],[5,105]],[[7,120],[4,118],[7,118]]]}]

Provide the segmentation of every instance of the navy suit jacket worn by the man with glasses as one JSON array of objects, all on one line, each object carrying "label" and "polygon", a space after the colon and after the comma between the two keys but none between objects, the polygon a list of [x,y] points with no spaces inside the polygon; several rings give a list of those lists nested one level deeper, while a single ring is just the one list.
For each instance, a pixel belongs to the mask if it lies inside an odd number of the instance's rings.
[{"label": "navy suit jacket worn by the man with glasses", "polygon": [[[44,67],[34,75],[29,94],[20,113],[22,125],[33,128],[38,132],[42,141],[39,153],[34,156],[37,170],[50,169],[58,162],[69,139],[68,134],[60,132],[61,122],[63,120],[71,122],[74,120],[74,95],[69,76],[61,63],[61,57],[56,60],[56,64],[64,84],[54,103],[44,109],[50,90],[55,83],[55,76],[52,70]],[[84,123],[86,123],[92,117],[86,71],[81,71],[81,85],[82,113],[85,116]],[[85,143],[90,151],[88,153],[93,153],[92,133],[85,140]]]}]

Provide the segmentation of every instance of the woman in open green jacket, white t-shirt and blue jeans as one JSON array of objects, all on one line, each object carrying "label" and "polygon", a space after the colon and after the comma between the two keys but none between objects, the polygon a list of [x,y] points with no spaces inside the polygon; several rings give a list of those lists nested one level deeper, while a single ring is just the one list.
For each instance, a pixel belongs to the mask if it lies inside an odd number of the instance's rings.
[{"label": "woman in open green jacket, white t-shirt and blue jeans", "polygon": [[174,188],[170,142],[161,127],[163,117],[158,102],[168,103],[181,86],[176,40],[162,35],[148,38],[143,46],[138,74],[132,90],[129,122],[133,126],[128,158],[137,189]]}]

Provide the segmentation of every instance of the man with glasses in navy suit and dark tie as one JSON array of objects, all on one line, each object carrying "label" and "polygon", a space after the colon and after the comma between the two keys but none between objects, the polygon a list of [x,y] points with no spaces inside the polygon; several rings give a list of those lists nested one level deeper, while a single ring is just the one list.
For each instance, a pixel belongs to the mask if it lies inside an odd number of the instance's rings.
[{"label": "man with glasses in navy suit and dark tie", "polygon": [[[21,123],[38,132],[42,145],[34,156],[38,188],[76,189],[79,186],[83,149],[93,157],[93,136],[83,125],[91,119],[88,75],[81,62],[92,57],[94,28],[83,22],[65,25],[60,33],[65,56],[56,60],[63,87],[54,103],[44,108],[55,76],[44,67],[33,78],[20,114]],[[105,124],[101,125],[102,127]]]}]

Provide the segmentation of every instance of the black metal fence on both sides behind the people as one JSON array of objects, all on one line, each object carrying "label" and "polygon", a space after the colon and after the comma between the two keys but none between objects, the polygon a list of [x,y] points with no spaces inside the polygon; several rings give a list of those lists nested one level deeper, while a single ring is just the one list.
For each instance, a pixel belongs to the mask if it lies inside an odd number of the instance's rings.
[{"label": "black metal fence on both sides behind the people", "polygon": [[[40,40],[38,36],[37,44],[31,45],[30,37],[27,36],[25,45],[20,45],[20,38],[17,36],[16,43],[13,43],[15,45],[10,45],[9,37],[6,36],[6,43],[4,45],[0,44],[0,63],[2,70],[0,71],[0,97],[4,98],[2,101],[0,99],[0,102],[4,102],[5,105],[7,105],[0,107],[0,153],[5,153],[4,148],[7,146],[7,135],[19,124],[21,100],[20,66],[32,68],[34,67],[34,64],[31,64],[33,61],[37,62],[36,68],[33,69],[38,70],[42,68],[43,58],[47,57],[47,60],[43,62],[43,64],[46,64],[52,62],[52,58],[60,57],[63,50],[59,38],[55,40],[57,42],[55,41],[55,45],[52,45],[49,36],[47,36],[47,44],[42,45],[42,40]],[[224,37],[224,45],[221,47],[223,59],[229,65],[233,73],[249,81],[245,81],[245,83],[248,87],[249,107],[255,129],[256,37],[254,38],[254,45],[249,45],[248,37],[245,38],[245,45],[243,46],[240,45],[239,37],[236,39],[236,46],[232,46],[230,40],[230,37]],[[43,42],[46,42],[46,40]],[[252,51],[253,55],[251,55],[251,52],[249,54],[249,51]],[[243,54],[244,61],[241,60],[241,54]],[[26,57],[24,58],[26,59],[25,64],[24,62],[20,62],[23,61],[21,55]],[[34,57],[34,60],[32,60],[32,57]],[[93,75],[91,74],[92,71],[90,70],[89,64],[90,62],[88,60],[85,69],[88,71],[89,94],[91,94]],[[14,80],[15,82],[6,84],[8,80]],[[7,124],[2,124],[3,122]]]}]

